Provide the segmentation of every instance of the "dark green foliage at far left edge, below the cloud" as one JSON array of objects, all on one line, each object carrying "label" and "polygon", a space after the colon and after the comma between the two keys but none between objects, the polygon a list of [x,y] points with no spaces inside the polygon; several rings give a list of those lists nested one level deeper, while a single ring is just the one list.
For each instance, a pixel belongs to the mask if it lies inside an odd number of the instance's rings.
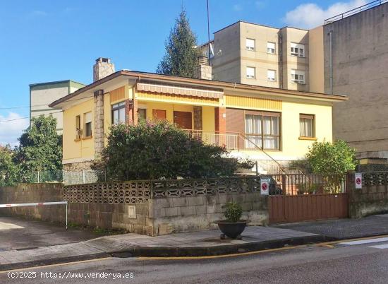
[{"label": "dark green foliage at far left edge, below the cloud", "polygon": [[0,187],[18,182],[18,167],[13,163],[13,152],[9,146],[0,146]]}]

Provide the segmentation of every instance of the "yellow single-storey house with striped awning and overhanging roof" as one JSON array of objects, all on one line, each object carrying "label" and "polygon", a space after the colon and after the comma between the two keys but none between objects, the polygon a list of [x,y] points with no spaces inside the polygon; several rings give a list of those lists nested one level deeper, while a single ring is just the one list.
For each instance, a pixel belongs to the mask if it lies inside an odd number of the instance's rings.
[{"label": "yellow single-storey house with striped awning and overhanging roof", "polygon": [[51,103],[63,110],[63,168],[85,170],[107,144],[109,126],[167,119],[232,155],[286,165],[314,141],[332,141],[339,95],[117,71]]}]

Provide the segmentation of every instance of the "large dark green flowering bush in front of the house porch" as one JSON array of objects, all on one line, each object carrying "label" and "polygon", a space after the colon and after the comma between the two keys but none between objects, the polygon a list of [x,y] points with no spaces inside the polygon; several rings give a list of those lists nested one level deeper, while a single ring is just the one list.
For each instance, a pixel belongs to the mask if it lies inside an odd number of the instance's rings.
[{"label": "large dark green flowering bush in front of the house porch", "polygon": [[141,121],[111,126],[108,146],[92,166],[114,180],[231,176],[253,162],[230,158],[219,146],[206,145],[169,122]]}]

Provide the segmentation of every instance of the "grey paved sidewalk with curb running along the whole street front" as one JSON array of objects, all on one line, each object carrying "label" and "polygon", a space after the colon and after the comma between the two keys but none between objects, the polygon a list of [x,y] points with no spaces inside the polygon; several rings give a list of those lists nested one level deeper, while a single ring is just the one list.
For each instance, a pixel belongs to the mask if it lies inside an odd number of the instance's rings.
[{"label": "grey paved sidewalk with curb running along the whole street front", "polygon": [[219,230],[159,237],[124,234],[71,244],[0,251],[0,271],[109,256],[210,256],[336,239],[388,235],[388,214],[362,219],[247,227],[243,239],[220,239]]}]

